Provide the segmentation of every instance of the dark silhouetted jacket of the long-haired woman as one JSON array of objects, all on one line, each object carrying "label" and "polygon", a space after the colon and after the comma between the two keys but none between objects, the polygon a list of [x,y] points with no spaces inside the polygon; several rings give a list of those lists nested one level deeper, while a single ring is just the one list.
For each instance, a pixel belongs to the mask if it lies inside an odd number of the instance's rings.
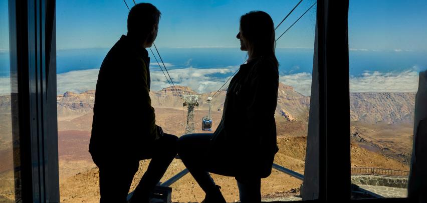
[{"label": "dark silhouetted jacket of the long-haired woman", "polygon": [[278,88],[278,67],[265,57],[241,65],[230,82],[210,153],[231,157],[230,166],[241,175],[267,177],[271,173],[278,151],[274,119]]}]

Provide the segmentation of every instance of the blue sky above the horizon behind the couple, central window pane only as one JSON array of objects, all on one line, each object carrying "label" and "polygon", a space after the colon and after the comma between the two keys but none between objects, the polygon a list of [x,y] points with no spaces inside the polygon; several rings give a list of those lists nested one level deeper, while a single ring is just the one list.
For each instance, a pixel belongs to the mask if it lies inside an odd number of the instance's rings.
[{"label": "blue sky above the horizon behind the couple, central window pane only", "polygon": [[[140,1],[136,1],[137,3]],[[158,47],[237,47],[235,38],[241,15],[262,10],[277,24],[298,1],[147,1],[162,12]],[[132,6],[132,1],[127,1]],[[284,31],[314,3],[305,0],[289,21],[278,30]],[[84,7],[83,7],[84,5]],[[58,1],[58,49],[111,47],[126,34],[128,10],[120,0],[114,1]],[[315,10],[295,26],[293,33],[278,46],[312,47]],[[306,34],[307,33],[307,34]],[[303,35],[301,35],[303,34]]]}]

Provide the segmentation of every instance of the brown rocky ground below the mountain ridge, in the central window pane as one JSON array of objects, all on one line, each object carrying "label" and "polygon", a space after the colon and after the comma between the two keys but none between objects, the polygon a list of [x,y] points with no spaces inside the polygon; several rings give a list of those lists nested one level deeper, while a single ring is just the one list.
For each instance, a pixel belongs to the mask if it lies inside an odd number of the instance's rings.
[{"label": "brown rocky ground below the mountain ridge, in the central window pane", "polygon": [[[156,108],[156,122],[164,126],[164,131],[173,134],[183,134],[182,110]],[[206,110],[198,110],[196,119],[206,114]],[[222,112],[213,112],[213,128],[218,125]],[[79,118],[71,120],[62,120],[59,122],[59,155],[60,155],[60,179],[61,179],[61,201],[81,202],[99,201],[98,190],[98,170],[90,161],[90,154],[87,152],[90,136],[90,123],[92,114],[86,114]],[[278,118],[280,120],[280,118]],[[285,167],[291,168],[303,173],[305,157],[305,137],[298,135],[304,134],[299,131],[306,130],[302,122],[290,122],[286,120],[278,121],[278,126],[282,132],[279,137],[280,151],[276,156],[275,162]],[[79,129],[79,130],[70,130]],[[181,132],[182,131],[182,132]],[[196,128],[196,132],[201,131]],[[285,136],[286,135],[286,136]],[[84,149],[84,150],[82,150]],[[140,162],[140,170],[135,175],[131,190],[136,186],[139,178],[145,171],[149,161]],[[89,168],[89,170],[87,170]],[[162,181],[172,177],[184,169],[180,160],[175,159],[167,170]],[[76,174],[76,175],[74,175]],[[213,175],[217,183],[222,185],[222,190],[229,201],[238,199],[238,190],[236,181],[233,177]],[[274,195],[275,193],[289,193],[292,189],[299,188],[302,182],[296,178],[286,175],[282,172],[273,170],[269,178],[263,179],[263,194]],[[176,201],[201,201],[204,196],[202,190],[191,175],[187,174],[172,185],[173,199]],[[295,193],[295,192],[294,192]],[[191,194],[188,196],[188,194]]]}]

